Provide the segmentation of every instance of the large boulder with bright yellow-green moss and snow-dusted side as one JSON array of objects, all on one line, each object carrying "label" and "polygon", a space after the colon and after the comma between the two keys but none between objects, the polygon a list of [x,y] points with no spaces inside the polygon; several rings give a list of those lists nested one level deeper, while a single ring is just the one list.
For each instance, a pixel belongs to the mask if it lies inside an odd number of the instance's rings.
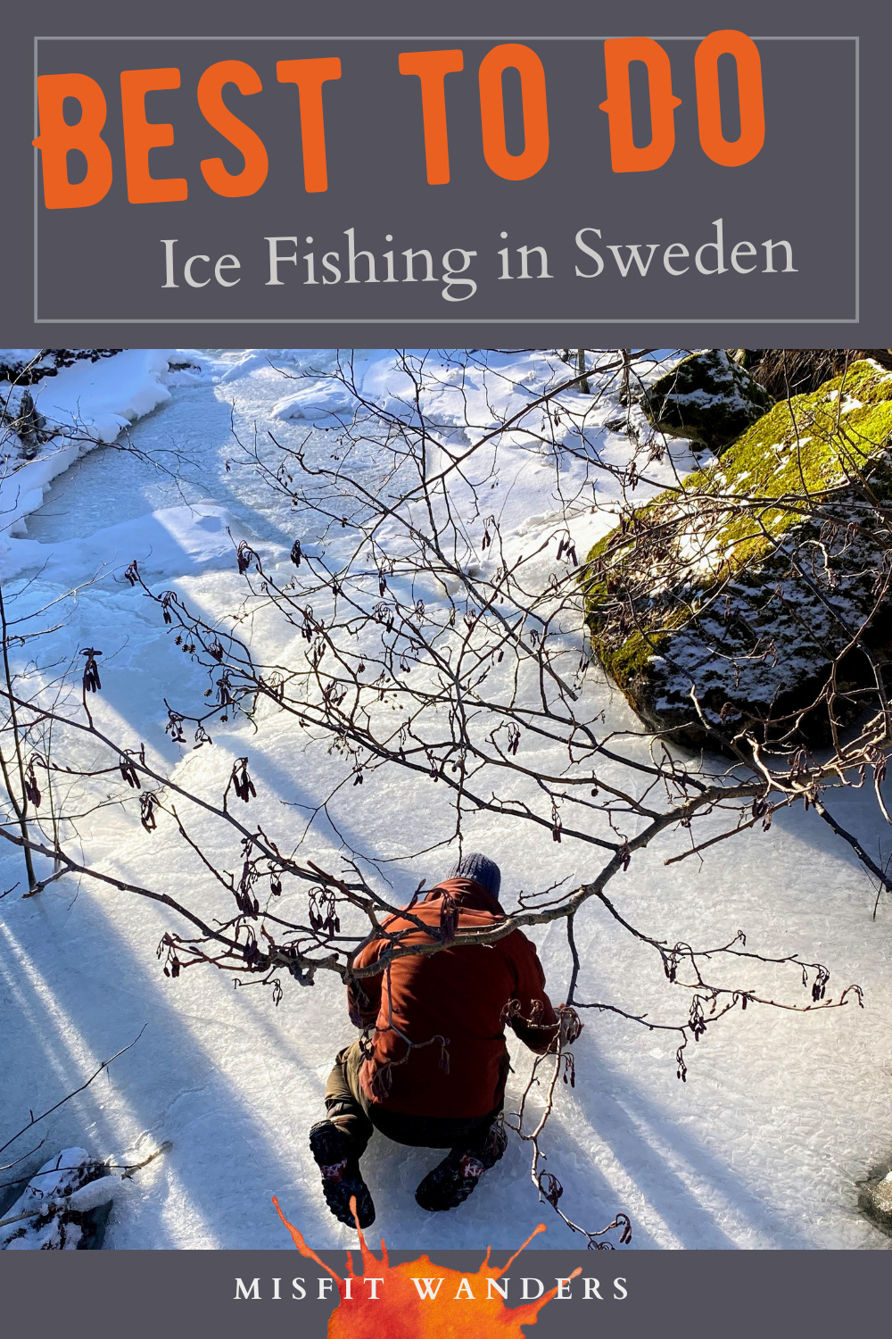
[{"label": "large boulder with bright yellow-green moss and snow-dusted side", "polygon": [[[859,362],[594,546],[592,647],[651,730],[816,744],[871,704],[892,657],[891,441],[892,372]],[[847,651],[861,629],[868,655]]]}]

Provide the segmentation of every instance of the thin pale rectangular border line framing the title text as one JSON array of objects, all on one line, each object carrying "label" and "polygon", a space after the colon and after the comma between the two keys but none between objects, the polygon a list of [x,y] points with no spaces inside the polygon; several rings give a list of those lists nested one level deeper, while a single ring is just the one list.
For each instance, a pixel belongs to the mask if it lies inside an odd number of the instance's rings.
[{"label": "thin pale rectangular border line framing the title text", "polygon": [[[618,33],[596,36],[560,35],[547,36],[456,36],[451,35],[401,35],[374,33],[366,36],[282,36],[251,33],[249,36],[215,36],[213,33],[193,35],[146,35],[112,36],[78,33],[71,36],[43,36],[33,39],[33,138],[40,134],[37,119],[37,46],[40,42],[607,42]],[[641,33],[638,33],[641,36]],[[654,42],[702,42],[702,36],[653,37]],[[33,150],[33,324],[35,325],[859,325],[861,320],[861,39],[860,36],[822,35],[772,35],[756,36],[753,42],[853,42],[855,43],[855,316],[39,316],[37,315],[37,154]]]}]

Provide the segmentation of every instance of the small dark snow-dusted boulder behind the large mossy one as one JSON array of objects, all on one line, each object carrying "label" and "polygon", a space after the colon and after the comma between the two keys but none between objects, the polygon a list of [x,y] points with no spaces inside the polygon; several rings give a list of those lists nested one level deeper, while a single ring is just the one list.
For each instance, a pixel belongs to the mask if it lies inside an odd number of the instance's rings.
[{"label": "small dark snow-dusted boulder behind the large mossy one", "polygon": [[659,432],[685,437],[721,455],[773,403],[723,348],[707,348],[682,359],[654,382],[642,408]]}]

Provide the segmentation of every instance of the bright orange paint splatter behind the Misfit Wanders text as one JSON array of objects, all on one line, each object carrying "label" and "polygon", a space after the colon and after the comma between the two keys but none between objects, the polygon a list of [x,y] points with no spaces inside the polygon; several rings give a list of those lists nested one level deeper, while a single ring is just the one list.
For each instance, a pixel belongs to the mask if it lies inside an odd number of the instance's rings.
[{"label": "bright orange paint splatter behind the Misfit Wanders text", "polygon": [[[489,1264],[489,1247],[476,1273],[460,1273],[444,1265],[435,1265],[428,1256],[391,1264],[386,1247],[381,1241],[381,1259],[365,1244],[357,1224],[362,1273],[353,1272],[353,1256],[346,1255],[346,1277],[341,1279],[308,1247],[304,1236],[293,1227],[278,1206],[275,1210],[292,1233],[301,1255],[316,1260],[334,1279],[340,1303],[329,1318],[329,1339],[526,1339],[522,1326],[535,1326],[542,1308],[558,1292],[551,1288],[535,1302],[508,1307],[499,1289],[489,1285],[500,1279],[532,1239],[546,1231],[540,1223],[527,1237],[520,1251],[515,1251],[500,1269]],[[350,1201],[356,1212],[356,1202]],[[574,1269],[571,1279],[582,1273]],[[378,1280],[374,1283],[373,1280]],[[372,1293],[377,1296],[373,1297]]]}]

